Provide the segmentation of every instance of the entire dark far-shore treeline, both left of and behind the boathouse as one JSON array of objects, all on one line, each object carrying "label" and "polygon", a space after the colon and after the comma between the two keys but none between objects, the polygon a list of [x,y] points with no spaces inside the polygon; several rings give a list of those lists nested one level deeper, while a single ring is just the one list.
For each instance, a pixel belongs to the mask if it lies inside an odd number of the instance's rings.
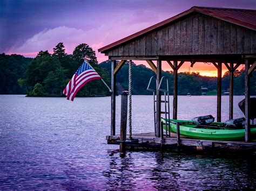
[{"label": "entire dark far-shore treeline, both left of and behind the boathouse", "polygon": [[[26,94],[28,96],[62,96],[63,89],[73,74],[86,59],[104,81],[111,82],[111,61],[98,64],[95,51],[87,45],[78,45],[72,54],[65,53],[63,43],[49,51],[41,51],[36,58],[24,58],[22,55],[0,54],[0,94]],[[129,65],[125,65],[117,74],[118,92],[128,90]],[[147,85],[154,72],[144,65],[132,63],[132,88],[134,95],[151,95]],[[163,72],[169,81],[170,94],[173,91],[173,73]],[[244,94],[244,69],[234,73],[234,95]],[[166,80],[163,87],[166,87]],[[184,72],[178,74],[178,95],[201,95],[201,87],[217,89],[217,77],[200,76],[199,73]],[[152,87],[156,88],[156,87]],[[223,91],[229,88],[229,72],[222,79]],[[251,94],[256,95],[256,72],[251,77]],[[100,80],[87,83],[78,91],[77,96],[110,95],[109,90]]]}]

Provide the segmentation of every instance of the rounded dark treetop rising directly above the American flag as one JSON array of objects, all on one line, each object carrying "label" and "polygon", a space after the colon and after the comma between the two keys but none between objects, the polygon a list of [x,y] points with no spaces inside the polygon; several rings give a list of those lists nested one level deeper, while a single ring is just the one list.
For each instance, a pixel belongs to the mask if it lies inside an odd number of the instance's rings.
[{"label": "rounded dark treetop rising directly above the American flag", "polygon": [[98,63],[95,51],[85,43],[80,44],[75,48],[73,51],[73,58],[79,62],[82,62],[85,59],[90,64]]}]

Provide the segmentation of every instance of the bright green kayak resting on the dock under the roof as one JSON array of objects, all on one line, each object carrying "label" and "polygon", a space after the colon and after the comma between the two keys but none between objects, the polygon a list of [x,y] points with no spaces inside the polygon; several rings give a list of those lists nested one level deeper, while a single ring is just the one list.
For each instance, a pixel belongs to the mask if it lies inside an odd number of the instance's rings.
[{"label": "bright green kayak resting on the dock under the roof", "polygon": [[[207,125],[193,124],[192,121],[170,119],[170,128],[168,121],[161,118],[164,122],[164,130],[176,133],[176,123],[180,123],[180,135],[194,138],[194,139],[207,139],[207,140],[244,140],[245,129],[227,129],[224,123],[213,122]],[[256,140],[256,128],[251,128],[252,139]]]}]

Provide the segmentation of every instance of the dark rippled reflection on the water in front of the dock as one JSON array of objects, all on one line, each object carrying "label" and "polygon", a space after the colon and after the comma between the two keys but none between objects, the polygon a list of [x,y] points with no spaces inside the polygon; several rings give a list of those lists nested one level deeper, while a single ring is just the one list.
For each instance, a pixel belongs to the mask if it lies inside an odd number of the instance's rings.
[{"label": "dark rippled reflection on the water in front of the dock", "polygon": [[253,189],[256,186],[255,158],[165,152],[128,152],[120,157],[116,151],[110,152],[109,157],[103,176],[112,189]]}]

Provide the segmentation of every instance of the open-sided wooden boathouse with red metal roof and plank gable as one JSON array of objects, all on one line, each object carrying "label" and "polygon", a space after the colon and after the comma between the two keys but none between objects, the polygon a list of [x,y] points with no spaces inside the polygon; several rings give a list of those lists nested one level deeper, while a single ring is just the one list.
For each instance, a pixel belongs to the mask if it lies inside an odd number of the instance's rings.
[{"label": "open-sided wooden boathouse with red metal roof and plank gable", "polygon": [[[256,10],[206,8],[193,6],[191,9],[150,26],[131,36],[99,48],[112,60],[111,72],[111,136],[116,136],[116,75],[128,60],[144,60],[157,75],[157,87],[161,79],[162,61],[173,70],[173,111],[177,119],[177,76],[184,62],[191,67],[197,62],[212,63],[218,70],[217,121],[221,121],[221,71],[225,65],[230,71],[229,116],[233,118],[233,73],[245,66],[245,142],[250,142],[250,75],[256,68]],[[117,61],[119,61],[117,65]],[[154,62],[156,62],[156,65]],[[200,63],[199,63],[200,64]],[[156,91],[156,142],[161,137],[161,91]],[[144,138],[146,140],[146,138]],[[138,139],[143,142],[143,137]],[[150,142],[147,140],[147,142]],[[164,139],[167,144],[169,140]],[[240,145],[252,146],[253,143]],[[186,141],[184,139],[183,143]],[[220,143],[220,142],[219,142]],[[225,144],[226,142],[221,142]],[[195,144],[198,144],[195,143]],[[214,142],[205,142],[213,146]],[[226,143],[227,145],[227,143]],[[255,147],[255,144],[254,144]]]}]

